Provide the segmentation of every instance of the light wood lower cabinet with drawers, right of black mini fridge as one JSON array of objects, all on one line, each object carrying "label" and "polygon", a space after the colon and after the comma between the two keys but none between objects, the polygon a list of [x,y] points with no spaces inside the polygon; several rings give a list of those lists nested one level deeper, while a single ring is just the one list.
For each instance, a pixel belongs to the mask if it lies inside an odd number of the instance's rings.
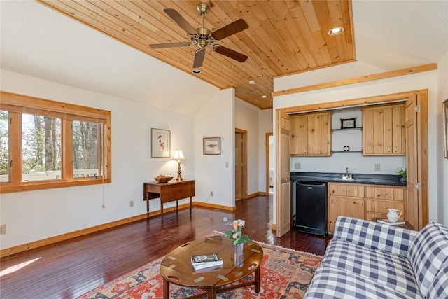
[{"label": "light wood lower cabinet with drawers, right of black mini fridge", "polygon": [[337,216],[365,220],[387,218],[389,208],[402,211],[400,220],[406,220],[405,189],[401,186],[328,183],[328,232],[335,231]]}]

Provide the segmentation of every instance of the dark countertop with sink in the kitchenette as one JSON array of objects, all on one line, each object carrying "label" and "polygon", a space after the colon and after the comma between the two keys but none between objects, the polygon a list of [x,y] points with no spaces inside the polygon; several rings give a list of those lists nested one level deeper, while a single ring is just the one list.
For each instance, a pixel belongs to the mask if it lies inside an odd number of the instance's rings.
[{"label": "dark countertop with sink in the kitchenette", "polygon": [[395,174],[353,174],[353,179],[342,179],[343,173],[335,172],[291,172],[291,181],[318,181],[331,183],[364,183],[371,185],[406,186]]}]

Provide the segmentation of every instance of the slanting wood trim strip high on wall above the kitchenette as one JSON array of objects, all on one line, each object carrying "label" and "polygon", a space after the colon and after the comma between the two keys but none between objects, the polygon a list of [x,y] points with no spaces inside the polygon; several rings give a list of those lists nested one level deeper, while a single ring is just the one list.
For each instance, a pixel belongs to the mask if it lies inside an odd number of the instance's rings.
[{"label": "slanting wood trim strip high on wall above the kitchenette", "polygon": [[299,93],[299,92],[320,90],[320,89],[324,89],[324,88],[335,88],[337,86],[363,83],[363,82],[375,81],[375,80],[386,79],[386,78],[393,78],[393,77],[398,77],[398,76],[405,76],[405,75],[410,75],[410,74],[421,73],[423,71],[434,71],[435,69],[437,69],[436,63],[424,64],[419,67],[410,67],[407,69],[398,69],[396,71],[386,71],[384,73],[379,73],[379,74],[371,74],[371,75],[367,75],[367,76],[359,76],[359,77],[355,77],[355,78],[332,81],[332,82],[327,82],[327,83],[308,85],[308,86],[303,86],[300,88],[291,88],[291,89],[287,89],[287,90],[274,91],[274,92],[272,92],[271,95],[274,98],[274,97],[279,97],[281,95],[292,95],[292,94]]}]

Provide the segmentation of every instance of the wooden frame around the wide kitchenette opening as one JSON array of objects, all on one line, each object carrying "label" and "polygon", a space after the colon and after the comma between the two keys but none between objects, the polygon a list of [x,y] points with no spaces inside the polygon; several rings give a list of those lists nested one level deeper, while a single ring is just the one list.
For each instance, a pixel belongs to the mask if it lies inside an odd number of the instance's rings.
[{"label": "wooden frame around the wide kitchenette opening", "polygon": [[[421,229],[424,225],[428,223],[429,215],[428,215],[428,153],[426,151],[428,146],[428,116],[427,116],[427,105],[428,105],[428,89],[423,90],[412,90],[407,92],[397,92],[389,95],[376,95],[372,97],[363,97],[358,99],[346,99],[340,100],[336,102],[325,102],[318,104],[308,104],[304,106],[293,106],[287,108],[276,109],[275,111],[275,123],[279,123],[279,115],[280,112],[284,113],[297,113],[297,112],[306,112],[306,111],[319,111],[319,110],[330,110],[330,109],[340,109],[344,107],[351,106],[366,106],[366,105],[374,105],[374,104],[384,104],[386,102],[405,102],[407,99],[412,97],[413,95],[418,95],[421,97],[421,122],[419,123],[419,130],[421,130],[420,144],[417,144],[420,161],[419,161],[419,169],[421,170],[421,183],[419,188],[419,193],[421,194],[421,198],[419,198],[419,207],[422,208],[422,211],[419,211],[419,227],[417,229]],[[276,126],[276,136],[278,137],[280,132],[278,126]],[[278,138],[276,138],[278,139]],[[409,146],[409,145],[407,145]],[[276,152],[276,161],[279,160],[279,152]],[[281,169],[278,163],[276,163],[276,173],[281,173]],[[289,195],[290,196],[290,195]],[[281,217],[281,204],[279,202],[279,198],[281,198],[281,190],[279,188],[275,191],[275,199],[276,199],[276,222]],[[277,223],[276,223],[277,224]],[[275,227],[276,225],[273,225]]]}]

